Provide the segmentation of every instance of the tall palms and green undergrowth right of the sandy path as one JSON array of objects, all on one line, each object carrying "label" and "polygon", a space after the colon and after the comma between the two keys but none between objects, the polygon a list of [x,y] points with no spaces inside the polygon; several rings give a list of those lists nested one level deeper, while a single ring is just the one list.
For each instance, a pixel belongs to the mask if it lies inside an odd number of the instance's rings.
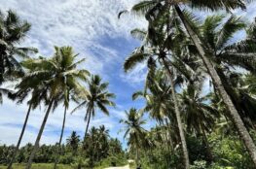
[{"label": "tall palms and green undergrowth right of the sandy path", "polygon": [[[121,121],[137,167],[256,168],[256,22],[231,13],[246,3],[152,0],[119,14],[148,23],[131,31],[141,45],[124,63],[147,69],[132,95],[145,105]],[[150,131],[145,114],[157,122]]]}]

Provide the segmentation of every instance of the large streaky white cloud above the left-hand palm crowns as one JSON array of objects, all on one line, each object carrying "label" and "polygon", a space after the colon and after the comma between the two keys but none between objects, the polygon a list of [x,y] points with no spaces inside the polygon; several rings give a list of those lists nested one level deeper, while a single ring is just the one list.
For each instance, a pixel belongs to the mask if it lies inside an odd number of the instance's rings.
[{"label": "large streaky white cloud above the left-hand palm crowns", "polygon": [[[72,46],[88,58],[88,69],[101,73],[106,68],[103,63],[113,62],[117,51],[103,47],[98,41],[104,36],[129,38],[131,29],[145,25],[144,19],[130,19],[128,15],[118,19],[118,13],[136,1],[0,0],[0,3],[2,10],[13,9],[32,24],[22,45],[36,47],[45,55],[52,54],[55,45]],[[105,59],[97,61],[97,53],[91,53],[95,51],[105,54]]]}]

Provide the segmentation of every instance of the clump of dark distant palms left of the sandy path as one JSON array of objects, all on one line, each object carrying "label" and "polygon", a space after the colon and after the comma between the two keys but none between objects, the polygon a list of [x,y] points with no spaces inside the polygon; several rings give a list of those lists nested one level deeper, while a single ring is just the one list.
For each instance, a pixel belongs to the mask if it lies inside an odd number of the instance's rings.
[{"label": "clump of dark distant palms left of the sandy path", "polygon": [[120,141],[110,138],[109,130],[104,125],[98,128],[92,126],[83,144],[76,132],[72,132],[67,139],[67,147],[70,147],[73,156],[82,157],[81,164],[84,162],[88,167],[93,167],[95,163],[109,156],[123,153]]}]

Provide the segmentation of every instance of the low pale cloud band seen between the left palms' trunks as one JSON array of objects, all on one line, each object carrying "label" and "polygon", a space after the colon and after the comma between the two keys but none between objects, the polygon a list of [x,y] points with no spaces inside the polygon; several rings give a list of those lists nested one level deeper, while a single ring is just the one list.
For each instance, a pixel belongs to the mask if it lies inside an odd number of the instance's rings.
[{"label": "low pale cloud band seen between the left palms' trunks", "polygon": [[[0,108],[0,144],[16,144],[21,131],[21,126],[26,115],[27,106],[25,104],[16,105],[14,102],[11,102],[6,98],[4,100],[4,106],[1,106]],[[86,109],[81,109],[70,115],[69,113],[74,107],[75,105],[71,104],[70,110],[68,111],[66,118],[65,131],[70,132],[74,130],[79,132],[80,134],[84,134],[86,129],[86,122],[84,120]],[[41,143],[54,144],[58,141],[63,120],[63,112],[64,110],[62,105],[59,105],[59,108],[55,110],[55,113],[50,114]],[[110,130],[113,129],[116,125],[119,124],[119,120],[116,120],[116,118],[120,118],[121,114],[118,115],[116,110],[111,110],[110,113],[111,116],[107,117],[101,112],[96,112],[97,116],[91,119],[90,127],[98,127],[99,125],[104,124],[106,128]],[[27,129],[24,133],[21,145],[24,145],[27,142],[34,143],[38,130],[43,121],[44,115],[44,109],[36,109],[30,113],[30,117],[27,123]],[[64,137],[68,136],[70,133],[66,134],[67,135],[64,135]]]}]

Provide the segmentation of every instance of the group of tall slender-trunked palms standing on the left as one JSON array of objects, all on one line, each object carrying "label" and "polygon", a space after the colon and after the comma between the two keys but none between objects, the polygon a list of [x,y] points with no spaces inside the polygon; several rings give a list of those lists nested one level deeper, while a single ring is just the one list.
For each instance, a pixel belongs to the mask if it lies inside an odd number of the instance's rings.
[{"label": "group of tall slender-trunked palms standing on the left", "polygon": [[[8,166],[12,168],[18,148],[20,146],[30,112],[43,104],[47,109],[45,117],[40,126],[34,149],[31,152],[26,168],[31,168],[35,153],[49,118],[50,112],[55,111],[59,104],[63,104],[63,123],[58,146],[60,148],[66,114],[69,109],[70,101],[79,104],[77,109],[86,108],[87,126],[85,138],[88,132],[91,118],[95,116],[99,109],[109,115],[107,106],[115,106],[111,101],[115,97],[108,91],[108,84],[102,83],[98,75],[91,75],[86,69],[77,67],[85,59],[78,60],[71,47],[55,47],[55,53],[51,57],[40,56],[31,58],[28,55],[37,52],[33,48],[20,48],[19,43],[29,31],[30,24],[21,20],[14,12],[8,11],[7,15],[0,16],[0,84],[16,82],[13,90],[1,88],[0,98],[7,94],[18,103],[27,101],[28,110],[18,139],[16,151]],[[20,60],[18,57],[24,59]],[[55,167],[57,157],[55,160]]]}]

